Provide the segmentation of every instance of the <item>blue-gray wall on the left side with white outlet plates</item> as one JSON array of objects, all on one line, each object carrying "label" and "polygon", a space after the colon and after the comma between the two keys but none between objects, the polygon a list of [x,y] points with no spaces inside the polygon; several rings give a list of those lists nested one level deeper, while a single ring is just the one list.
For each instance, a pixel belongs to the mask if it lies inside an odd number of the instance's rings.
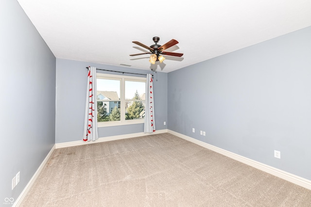
[{"label": "blue-gray wall on the left side with white outlet plates", "polygon": [[16,0],[0,4],[2,205],[17,199],[55,143],[56,59]]}]

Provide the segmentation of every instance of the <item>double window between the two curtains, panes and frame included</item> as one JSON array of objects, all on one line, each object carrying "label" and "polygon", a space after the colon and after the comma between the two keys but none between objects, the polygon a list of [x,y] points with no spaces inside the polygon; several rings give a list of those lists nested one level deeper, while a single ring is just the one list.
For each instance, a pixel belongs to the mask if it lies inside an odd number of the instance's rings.
[{"label": "double window between the two curtains, panes and frame included", "polygon": [[98,127],[143,123],[146,78],[97,73]]}]

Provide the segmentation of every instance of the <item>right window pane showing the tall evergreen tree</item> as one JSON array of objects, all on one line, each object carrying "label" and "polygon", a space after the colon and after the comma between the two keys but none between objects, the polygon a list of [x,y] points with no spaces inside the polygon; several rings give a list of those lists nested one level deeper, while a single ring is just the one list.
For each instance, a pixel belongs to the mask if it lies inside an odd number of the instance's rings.
[{"label": "right window pane showing the tall evergreen tree", "polygon": [[125,81],[125,120],[145,118],[146,83]]}]

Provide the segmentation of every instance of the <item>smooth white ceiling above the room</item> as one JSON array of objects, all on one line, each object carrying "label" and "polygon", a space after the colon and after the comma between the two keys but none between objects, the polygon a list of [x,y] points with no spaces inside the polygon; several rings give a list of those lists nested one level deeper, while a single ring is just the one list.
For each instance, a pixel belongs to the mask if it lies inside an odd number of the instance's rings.
[{"label": "smooth white ceiling above the room", "polygon": [[[311,0],[17,0],[56,58],[171,72],[311,26]],[[179,43],[162,64],[132,43]],[[125,66],[126,67],[126,66]],[[104,69],[104,68],[103,68]]]}]

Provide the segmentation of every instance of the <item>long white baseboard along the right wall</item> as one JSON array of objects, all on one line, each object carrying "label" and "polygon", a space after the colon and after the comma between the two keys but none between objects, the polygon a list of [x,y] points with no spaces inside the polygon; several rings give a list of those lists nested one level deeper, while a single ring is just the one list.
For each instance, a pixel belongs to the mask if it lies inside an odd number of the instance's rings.
[{"label": "long white baseboard along the right wall", "polygon": [[282,178],[282,179],[287,180],[289,182],[292,182],[292,183],[294,183],[296,185],[299,185],[301,187],[304,187],[306,189],[311,190],[311,180],[305,179],[303,177],[299,177],[297,175],[293,175],[291,173],[282,171],[282,170],[277,169],[275,167],[271,167],[269,165],[263,164],[261,162],[255,161],[253,159],[245,158],[245,157],[243,157],[241,155],[229,152],[227,150],[221,149],[219,147],[213,146],[213,145],[208,144],[208,143],[204,143],[202,141],[196,140],[196,139],[188,137],[186,135],[179,134],[179,133],[174,132],[172,130],[168,130],[168,133],[173,134],[173,135],[175,135],[177,137],[180,137],[182,139],[188,140],[188,141],[190,141],[192,143],[196,143],[196,144],[198,144],[200,146],[203,146],[203,147],[205,147],[207,149],[210,149],[210,150],[212,150],[214,152],[217,152],[219,154],[225,155],[226,157],[229,157],[231,159],[235,159],[235,160],[240,161],[240,162],[242,162],[244,164],[247,164],[247,165],[250,165],[252,167],[255,167],[255,168],[257,168],[257,169],[259,169],[259,170],[261,170],[263,172],[269,173],[271,175],[275,175],[275,176],[277,176],[279,178]]}]

